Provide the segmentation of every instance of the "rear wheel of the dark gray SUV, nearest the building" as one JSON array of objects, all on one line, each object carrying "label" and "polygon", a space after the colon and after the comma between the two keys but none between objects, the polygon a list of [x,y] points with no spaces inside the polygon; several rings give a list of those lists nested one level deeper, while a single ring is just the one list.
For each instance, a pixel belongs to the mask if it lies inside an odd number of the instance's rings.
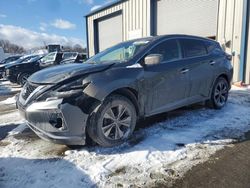
[{"label": "rear wheel of the dark gray SUV, nearest the building", "polygon": [[219,77],[214,83],[211,98],[207,101],[208,106],[214,109],[222,109],[227,103],[228,93],[228,81]]}]

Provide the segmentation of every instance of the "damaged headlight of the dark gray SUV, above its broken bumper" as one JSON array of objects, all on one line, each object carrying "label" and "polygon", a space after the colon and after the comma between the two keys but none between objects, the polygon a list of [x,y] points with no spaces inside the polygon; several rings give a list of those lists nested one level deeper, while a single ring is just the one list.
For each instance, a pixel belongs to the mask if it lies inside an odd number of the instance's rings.
[{"label": "damaged headlight of the dark gray SUV, above its broken bumper", "polygon": [[38,97],[38,101],[49,101],[54,99],[79,96],[83,93],[83,90],[89,84],[90,82],[85,82],[83,79],[78,79],[47,91],[42,96]]}]

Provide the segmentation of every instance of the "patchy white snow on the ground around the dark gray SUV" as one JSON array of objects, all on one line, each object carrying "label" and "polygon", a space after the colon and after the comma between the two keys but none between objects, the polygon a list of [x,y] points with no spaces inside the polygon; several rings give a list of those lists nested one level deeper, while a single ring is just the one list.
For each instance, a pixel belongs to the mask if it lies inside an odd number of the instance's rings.
[{"label": "patchy white snow on the ground around the dark gray SUV", "polygon": [[[17,112],[0,115],[0,132],[13,120],[22,121]],[[171,185],[250,130],[250,90],[234,87],[222,110],[195,105],[138,126],[122,146],[70,150],[37,138],[21,124],[0,141],[0,187]]]}]

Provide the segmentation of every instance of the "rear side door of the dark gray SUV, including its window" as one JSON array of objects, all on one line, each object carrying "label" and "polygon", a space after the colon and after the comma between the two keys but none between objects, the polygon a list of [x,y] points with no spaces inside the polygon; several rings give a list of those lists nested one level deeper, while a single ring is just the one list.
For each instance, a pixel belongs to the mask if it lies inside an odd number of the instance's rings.
[{"label": "rear side door of the dark gray SUV, including its window", "polygon": [[213,57],[209,55],[203,40],[180,39],[180,43],[190,74],[188,97],[194,101],[202,100],[209,96],[213,82]]}]

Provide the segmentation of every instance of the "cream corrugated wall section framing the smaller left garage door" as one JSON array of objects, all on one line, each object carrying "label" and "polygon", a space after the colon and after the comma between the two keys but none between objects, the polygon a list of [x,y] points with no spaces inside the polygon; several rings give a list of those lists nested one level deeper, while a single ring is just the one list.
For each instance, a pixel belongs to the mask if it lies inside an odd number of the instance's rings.
[{"label": "cream corrugated wall section framing the smaller left garage door", "polygon": [[94,20],[122,11],[123,40],[150,36],[150,0],[127,0],[87,17],[89,56],[94,50]]}]

